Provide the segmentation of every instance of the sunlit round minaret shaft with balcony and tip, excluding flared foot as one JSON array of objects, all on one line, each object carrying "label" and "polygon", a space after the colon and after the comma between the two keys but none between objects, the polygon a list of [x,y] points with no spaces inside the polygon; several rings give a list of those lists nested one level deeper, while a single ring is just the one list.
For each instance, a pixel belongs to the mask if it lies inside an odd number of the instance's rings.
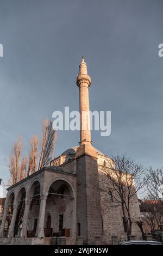
[{"label": "sunlit round minaret shaft with balcony and tip, excluding flared foot", "polygon": [[77,86],[80,92],[80,145],[91,145],[90,131],[90,105],[89,105],[89,87],[91,77],[87,75],[87,65],[84,56],[79,65],[79,75],[77,77]]}]

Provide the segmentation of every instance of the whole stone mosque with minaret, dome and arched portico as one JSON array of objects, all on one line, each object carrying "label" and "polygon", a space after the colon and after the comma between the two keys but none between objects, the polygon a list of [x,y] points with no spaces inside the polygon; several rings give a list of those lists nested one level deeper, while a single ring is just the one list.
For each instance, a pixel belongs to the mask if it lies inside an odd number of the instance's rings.
[{"label": "whole stone mosque with minaret, dome and arched portico", "polygon": [[[111,235],[125,233],[120,206],[114,207],[111,187],[105,192],[103,170],[109,168],[110,157],[92,146],[89,113],[89,87],[84,58],[79,66],[77,86],[80,96],[80,142],[64,151],[51,162],[51,166],[8,188],[0,230],[1,242],[51,243],[51,237],[82,236],[85,243],[93,237],[110,243]],[[83,128],[84,127],[84,128]],[[103,199],[112,204],[106,211]],[[131,217],[136,223],[140,217],[135,196],[131,202]],[[7,225],[8,220],[8,225]],[[137,225],[133,224],[133,233]],[[104,237],[104,234],[108,236]],[[74,235],[72,235],[74,234]],[[121,236],[121,234],[120,234]],[[48,237],[48,239],[46,239]],[[107,240],[108,237],[108,240]],[[90,242],[92,242],[90,240]]]}]

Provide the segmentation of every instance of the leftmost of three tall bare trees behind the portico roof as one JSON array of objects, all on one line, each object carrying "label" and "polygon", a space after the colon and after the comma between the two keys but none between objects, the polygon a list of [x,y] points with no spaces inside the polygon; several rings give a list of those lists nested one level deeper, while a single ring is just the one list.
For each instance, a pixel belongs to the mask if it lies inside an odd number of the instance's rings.
[{"label": "leftmost of three tall bare trees behind the portico roof", "polygon": [[10,178],[9,184],[13,185],[16,182],[22,180],[26,176],[27,169],[27,158],[22,157],[22,137],[20,136],[17,141],[14,143],[14,146],[11,149],[10,161],[9,161],[9,170]]}]

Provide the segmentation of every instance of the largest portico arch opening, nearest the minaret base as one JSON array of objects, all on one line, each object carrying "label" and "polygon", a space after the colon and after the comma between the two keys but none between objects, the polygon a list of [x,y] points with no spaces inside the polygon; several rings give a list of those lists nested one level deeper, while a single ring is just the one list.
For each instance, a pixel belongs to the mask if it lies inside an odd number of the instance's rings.
[{"label": "largest portico arch opening, nearest the minaret base", "polygon": [[[46,212],[52,213],[51,229],[54,235],[67,235],[73,229],[74,192],[70,181],[55,178],[47,187]],[[48,231],[46,229],[46,231]],[[46,236],[46,234],[45,234]]]}]

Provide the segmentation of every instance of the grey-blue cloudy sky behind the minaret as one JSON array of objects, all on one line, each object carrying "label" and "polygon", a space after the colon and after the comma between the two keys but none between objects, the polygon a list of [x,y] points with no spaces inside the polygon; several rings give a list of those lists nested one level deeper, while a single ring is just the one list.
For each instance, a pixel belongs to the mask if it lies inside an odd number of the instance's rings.
[{"label": "grey-blue cloudy sky behind the minaret", "polygon": [[[90,108],[111,111],[111,135],[92,132],[104,154],[127,153],[163,166],[162,0],[0,0],[0,178],[18,135],[41,132],[43,117],[79,109],[82,54]],[[53,119],[52,119],[53,120]],[[78,145],[79,131],[59,131],[55,156]]]}]

